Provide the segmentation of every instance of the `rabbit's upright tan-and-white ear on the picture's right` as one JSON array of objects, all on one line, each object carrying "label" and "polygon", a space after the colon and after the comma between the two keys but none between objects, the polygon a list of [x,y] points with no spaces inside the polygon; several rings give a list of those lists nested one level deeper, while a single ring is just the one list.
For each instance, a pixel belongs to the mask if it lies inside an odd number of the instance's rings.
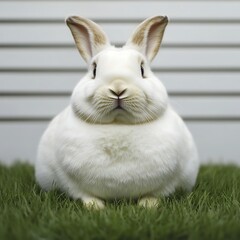
[{"label": "rabbit's upright tan-and-white ear on the picture's right", "polygon": [[158,53],[167,24],[166,16],[146,19],[136,28],[126,46],[137,49],[151,62]]}]

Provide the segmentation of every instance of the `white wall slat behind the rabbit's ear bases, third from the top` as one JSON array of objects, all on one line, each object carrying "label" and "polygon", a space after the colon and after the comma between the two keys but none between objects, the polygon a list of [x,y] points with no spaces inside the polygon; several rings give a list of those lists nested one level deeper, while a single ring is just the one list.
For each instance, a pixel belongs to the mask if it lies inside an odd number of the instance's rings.
[{"label": "white wall slat behind the rabbit's ear bases, third from the top", "polygon": [[[23,61],[24,59],[24,61]],[[153,67],[239,68],[240,49],[160,49]],[[1,49],[0,70],[84,68],[77,49]]]}]

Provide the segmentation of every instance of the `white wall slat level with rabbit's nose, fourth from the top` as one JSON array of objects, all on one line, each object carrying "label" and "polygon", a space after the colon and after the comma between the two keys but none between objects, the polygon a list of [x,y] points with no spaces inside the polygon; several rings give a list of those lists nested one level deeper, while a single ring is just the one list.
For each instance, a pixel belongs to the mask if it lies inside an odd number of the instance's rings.
[{"label": "white wall slat level with rabbit's nose, fourth from the top", "polygon": [[[167,90],[175,93],[238,94],[239,73],[155,72]],[[70,94],[84,75],[81,73],[0,73],[1,94]],[[0,99],[1,100],[1,99]]]}]

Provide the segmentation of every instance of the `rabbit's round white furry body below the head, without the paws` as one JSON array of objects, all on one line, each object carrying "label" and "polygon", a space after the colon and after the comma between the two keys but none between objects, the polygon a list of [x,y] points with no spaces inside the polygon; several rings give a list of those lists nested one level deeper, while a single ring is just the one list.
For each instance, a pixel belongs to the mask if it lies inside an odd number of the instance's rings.
[{"label": "rabbit's round white furry body below the head, without the paws", "polygon": [[192,137],[170,108],[157,121],[126,126],[91,125],[69,107],[43,135],[36,164],[44,189],[58,187],[80,199],[191,190],[198,171]]}]

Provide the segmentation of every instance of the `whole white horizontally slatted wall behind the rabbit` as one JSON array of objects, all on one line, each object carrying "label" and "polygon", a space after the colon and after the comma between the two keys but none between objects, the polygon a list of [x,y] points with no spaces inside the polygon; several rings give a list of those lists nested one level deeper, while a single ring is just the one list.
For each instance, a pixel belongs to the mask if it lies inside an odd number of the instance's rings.
[{"label": "whole white horizontally slatted wall behind the rabbit", "polygon": [[240,164],[240,1],[1,1],[0,159],[33,162],[50,119],[86,65],[64,19],[96,20],[113,43],[152,15],[170,18],[152,67],[203,163]]}]

